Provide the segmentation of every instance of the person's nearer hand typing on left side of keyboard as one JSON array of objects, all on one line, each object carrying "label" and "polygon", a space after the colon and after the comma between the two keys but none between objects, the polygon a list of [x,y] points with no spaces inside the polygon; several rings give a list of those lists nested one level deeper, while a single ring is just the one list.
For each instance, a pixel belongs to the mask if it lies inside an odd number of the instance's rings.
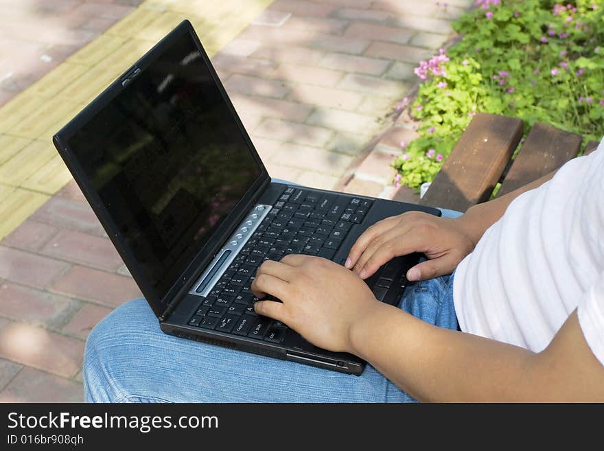
[{"label": "person's nearer hand typing on left side of keyboard", "polygon": [[334,262],[310,255],[267,260],[257,270],[252,291],[277,301],[257,301],[257,314],[292,327],[310,343],[329,351],[351,351],[350,331],[382,303],[358,275]]}]

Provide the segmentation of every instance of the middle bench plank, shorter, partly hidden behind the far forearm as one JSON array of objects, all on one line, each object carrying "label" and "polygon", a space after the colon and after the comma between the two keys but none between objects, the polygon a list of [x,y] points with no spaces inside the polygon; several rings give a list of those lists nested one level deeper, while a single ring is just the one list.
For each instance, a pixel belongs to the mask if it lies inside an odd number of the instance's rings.
[{"label": "middle bench plank, shorter, partly hidden behind the far forearm", "polygon": [[580,135],[546,124],[535,124],[496,197],[523,187],[577,157],[581,141],[583,137]]}]

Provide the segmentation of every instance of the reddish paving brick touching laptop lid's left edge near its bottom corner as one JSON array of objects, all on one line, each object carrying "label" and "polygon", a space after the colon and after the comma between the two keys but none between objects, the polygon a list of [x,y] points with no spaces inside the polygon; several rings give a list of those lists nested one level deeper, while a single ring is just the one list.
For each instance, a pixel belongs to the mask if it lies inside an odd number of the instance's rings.
[{"label": "reddish paving brick touching laptop lid's left edge near its bottom corner", "polygon": [[104,273],[84,266],[73,266],[56,281],[51,290],[112,308],[142,296],[137,284],[130,277]]}]

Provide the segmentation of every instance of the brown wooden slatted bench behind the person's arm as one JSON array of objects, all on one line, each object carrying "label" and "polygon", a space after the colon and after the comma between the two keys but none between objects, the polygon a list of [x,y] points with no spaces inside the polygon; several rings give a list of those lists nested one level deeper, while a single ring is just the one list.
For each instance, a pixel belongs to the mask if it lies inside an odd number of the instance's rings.
[{"label": "brown wooden slatted bench behind the person's arm", "polygon": [[[535,124],[512,161],[523,133],[522,120],[478,113],[434,177],[421,204],[465,211],[537,180],[577,157],[583,138],[545,124]],[[584,154],[595,150],[590,141]]]}]

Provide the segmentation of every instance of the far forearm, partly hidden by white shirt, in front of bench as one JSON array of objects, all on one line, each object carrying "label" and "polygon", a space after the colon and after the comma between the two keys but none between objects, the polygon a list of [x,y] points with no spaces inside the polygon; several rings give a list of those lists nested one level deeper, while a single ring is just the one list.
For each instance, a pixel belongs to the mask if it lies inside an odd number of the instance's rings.
[{"label": "far forearm, partly hidden by white shirt, in front of bench", "polygon": [[528,185],[515,189],[515,191],[508,193],[505,196],[474,205],[467,209],[459,220],[463,223],[463,227],[470,238],[472,238],[472,241],[474,241],[474,245],[480,240],[480,237],[483,236],[485,231],[503,216],[503,213],[511,204],[512,200],[520,196],[520,194],[543,185],[546,181],[550,180],[555,173],[556,171],[550,172],[542,178],[538,178]]}]

